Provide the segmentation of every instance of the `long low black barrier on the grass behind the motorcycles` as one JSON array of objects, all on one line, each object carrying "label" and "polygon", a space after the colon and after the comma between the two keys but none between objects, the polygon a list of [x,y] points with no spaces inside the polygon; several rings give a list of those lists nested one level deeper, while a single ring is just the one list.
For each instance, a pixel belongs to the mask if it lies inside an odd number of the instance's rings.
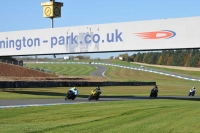
[{"label": "long low black barrier on the grass behind the motorcycles", "polygon": [[0,88],[86,87],[86,86],[152,86],[156,82],[70,82],[70,81],[0,81]]}]

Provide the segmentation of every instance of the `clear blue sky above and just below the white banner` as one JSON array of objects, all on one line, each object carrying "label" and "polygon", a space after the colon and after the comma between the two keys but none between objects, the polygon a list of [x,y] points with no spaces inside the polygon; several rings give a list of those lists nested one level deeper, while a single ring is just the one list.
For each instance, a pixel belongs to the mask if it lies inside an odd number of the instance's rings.
[{"label": "clear blue sky above and just below the white banner", "polygon": [[[50,28],[50,19],[43,18],[41,6],[42,2],[48,1],[1,1],[0,32]],[[57,2],[64,4],[62,17],[54,19],[54,27],[57,28],[200,16],[200,0],[59,0]],[[122,53],[81,55],[109,58]],[[133,53],[129,52],[129,55]]]}]

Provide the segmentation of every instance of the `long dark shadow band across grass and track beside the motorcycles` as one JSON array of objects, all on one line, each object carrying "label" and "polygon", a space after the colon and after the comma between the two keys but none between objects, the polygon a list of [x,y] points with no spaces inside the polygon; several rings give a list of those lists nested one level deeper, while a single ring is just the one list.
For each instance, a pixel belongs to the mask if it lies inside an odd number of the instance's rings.
[{"label": "long dark shadow band across grass and track beside the motorcycles", "polygon": [[[41,91],[4,91],[4,92],[9,92],[9,93],[18,93],[18,94],[28,94],[28,95],[39,95],[39,96],[63,96],[65,97],[66,93],[58,93],[58,92],[41,92]],[[77,97],[79,98],[88,98],[88,95],[78,95]],[[151,99],[151,100],[156,100],[156,99],[171,99],[171,100],[189,100],[189,101],[200,101],[200,97],[198,96],[158,96],[157,98],[149,98],[149,96],[133,96],[133,95],[124,95],[124,96],[104,96],[101,95],[100,98],[118,98],[118,99]]]}]

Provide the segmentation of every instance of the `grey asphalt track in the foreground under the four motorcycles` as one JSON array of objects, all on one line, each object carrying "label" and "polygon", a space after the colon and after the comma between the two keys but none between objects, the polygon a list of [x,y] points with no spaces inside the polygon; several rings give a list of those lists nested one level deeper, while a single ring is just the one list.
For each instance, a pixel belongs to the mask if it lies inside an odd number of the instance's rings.
[{"label": "grey asphalt track in the foreground under the four motorcycles", "polygon": [[159,96],[157,98],[149,98],[145,96],[138,97],[100,97],[98,101],[91,100],[88,98],[79,98],[75,100],[63,99],[26,99],[26,100],[0,100],[0,108],[16,108],[16,107],[28,107],[28,106],[51,106],[61,104],[82,104],[82,103],[98,103],[98,102],[111,102],[111,101],[124,101],[124,100],[158,100],[158,99],[174,99],[174,100],[195,100],[200,101],[200,96]]}]

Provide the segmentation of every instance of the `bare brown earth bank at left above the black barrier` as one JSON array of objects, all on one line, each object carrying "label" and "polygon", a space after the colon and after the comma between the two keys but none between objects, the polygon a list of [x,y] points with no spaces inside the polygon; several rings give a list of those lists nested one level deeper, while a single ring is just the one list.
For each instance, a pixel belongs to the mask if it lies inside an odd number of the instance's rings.
[{"label": "bare brown earth bank at left above the black barrier", "polygon": [[24,68],[12,64],[0,63],[0,81],[107,81],[96,76],[63,76]]}]

